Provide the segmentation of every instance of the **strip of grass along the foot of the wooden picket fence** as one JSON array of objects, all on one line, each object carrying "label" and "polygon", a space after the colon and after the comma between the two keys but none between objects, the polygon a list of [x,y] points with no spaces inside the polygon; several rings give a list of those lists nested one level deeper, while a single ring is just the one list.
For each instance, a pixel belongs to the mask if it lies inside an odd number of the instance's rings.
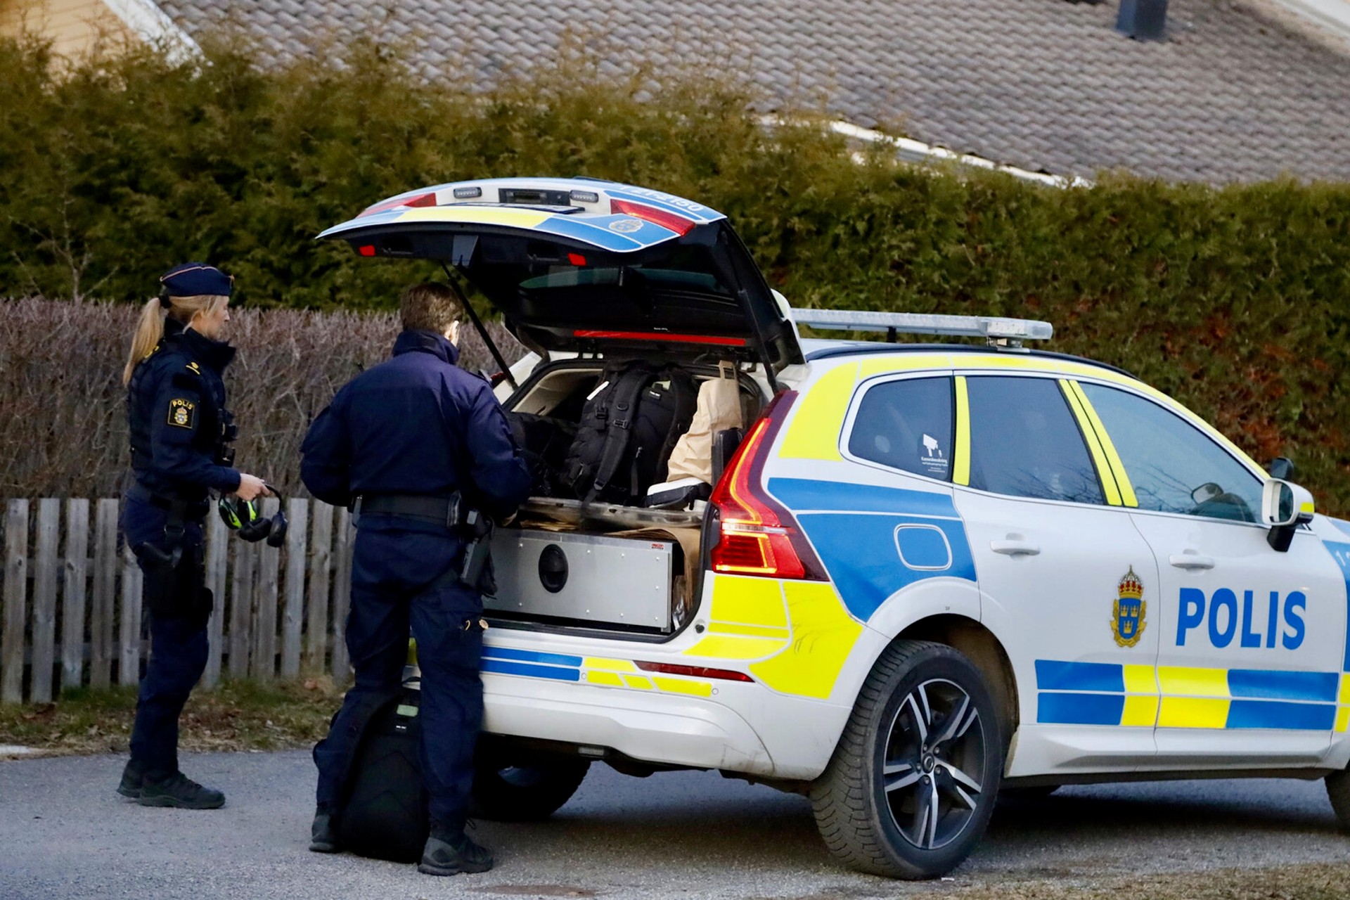
[{"label": "strip of grass along the foot of the wooden picket fence", "polygon": [[[193,691],[180,719],[184,750],[281,750],[312,745],[342,703],[331,677],[256,684],[225,681]],[[55,703],[0,706],[0,745],[45,756],[124,753],[136,690],[80,688]]]}]

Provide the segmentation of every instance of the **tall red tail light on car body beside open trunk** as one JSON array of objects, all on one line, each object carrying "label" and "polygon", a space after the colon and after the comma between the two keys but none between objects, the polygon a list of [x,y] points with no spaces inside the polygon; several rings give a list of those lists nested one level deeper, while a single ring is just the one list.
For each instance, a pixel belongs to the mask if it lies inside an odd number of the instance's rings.
[{"label": "tall red tail light on car body beside open trunk", "polygon": [[717,542],[709,549],[714,572],[824,580],[824,567],[796,521],[760,487],[764,456],[796,399],[778,394],[728,464],[709,503]]}]

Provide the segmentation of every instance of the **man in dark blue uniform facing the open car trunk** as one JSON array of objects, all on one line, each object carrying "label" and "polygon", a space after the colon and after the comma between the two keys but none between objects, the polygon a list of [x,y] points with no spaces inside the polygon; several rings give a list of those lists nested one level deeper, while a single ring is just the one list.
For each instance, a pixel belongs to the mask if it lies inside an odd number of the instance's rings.
[{"label": "man in dark blue uniform facing the open car trunk", "polygon": [[[301,447],[315,497],[351,505],[356,545],[347,648],[356,669],[328,737],[315,748],[317,811],[310,850],[338,846],[339,792],[363,710],[397,691],[408,629],[421,667],[423,780],[432,831],[420,872],[486,872],[491,854],[464,835],[482,723],[482,596],[466,583],[468,510],[508,518],[529,471],[489,385],[458,368],[462,305],[446,285],[409,287],[393,359],[348,382]],[[478,514],[478,513],[475,513]]]}]

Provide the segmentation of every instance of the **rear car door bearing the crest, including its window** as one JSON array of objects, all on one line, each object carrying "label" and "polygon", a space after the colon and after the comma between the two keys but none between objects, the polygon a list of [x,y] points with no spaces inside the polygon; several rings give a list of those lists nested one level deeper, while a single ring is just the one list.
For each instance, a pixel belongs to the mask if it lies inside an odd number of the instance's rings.
[{"label": "rear car door bearing the crest, including its window", "polygon": [[1157,568],[1068,385],[957,378],[956,507],[1019,696],[1010,777],[1131,772],[1154,752]]}]

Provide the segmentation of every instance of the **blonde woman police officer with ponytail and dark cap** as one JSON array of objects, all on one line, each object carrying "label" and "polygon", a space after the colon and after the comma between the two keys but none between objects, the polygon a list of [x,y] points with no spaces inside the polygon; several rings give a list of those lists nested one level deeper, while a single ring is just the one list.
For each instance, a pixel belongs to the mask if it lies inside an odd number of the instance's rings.
[{"label": "blonde woman police officer with ponytail and dark cap", "polygon": [[122,530],[144,573],[150,664],[117,792],[142,806],[215,810],[225,801],[178,770],[178,714],[207,665],[207,493],[246,501],[267,493],[262,479],[230,467],[235,428],[221,372],[235,351],[217,337],[230,321],[231,281],[205,263],[165,273],[159,297],[140,313],[123,372],[135,482]]}]

